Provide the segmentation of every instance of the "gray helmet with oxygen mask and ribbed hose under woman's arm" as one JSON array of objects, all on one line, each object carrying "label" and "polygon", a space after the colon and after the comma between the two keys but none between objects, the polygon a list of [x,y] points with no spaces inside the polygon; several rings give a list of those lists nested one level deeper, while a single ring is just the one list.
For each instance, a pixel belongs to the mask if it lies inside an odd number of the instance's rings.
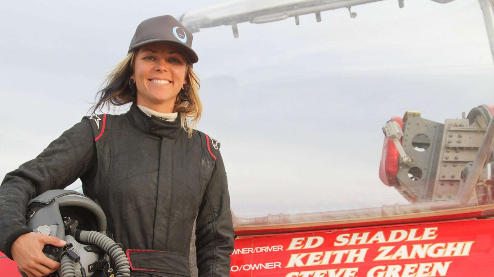
[{"label": "gray helmet with oxygen mask and ribbed hose under woman's arm", "polygon": [[49,190],[29,201],[27,210],[27,226],[33,232],[67,242],[65,247],[46,244],[43,248],[47,257],[62,264],[62,269],[50,277],[109,273],[108,257],[116,265],[116,276],[130,276],[122,246],[107,237],[103,210],[87,196],[72,190]]}]

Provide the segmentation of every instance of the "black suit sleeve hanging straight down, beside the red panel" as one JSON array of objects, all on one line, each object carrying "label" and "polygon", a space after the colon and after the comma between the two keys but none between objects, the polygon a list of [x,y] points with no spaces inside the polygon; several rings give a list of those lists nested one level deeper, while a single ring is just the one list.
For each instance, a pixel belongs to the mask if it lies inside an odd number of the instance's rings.
[{"label": "black suit sleeve hanging straight down, beside the red panel", "polygon": [[219,152],[199,208],[196,227],[199,277],[230,276],[233,222],[225,167]]}]

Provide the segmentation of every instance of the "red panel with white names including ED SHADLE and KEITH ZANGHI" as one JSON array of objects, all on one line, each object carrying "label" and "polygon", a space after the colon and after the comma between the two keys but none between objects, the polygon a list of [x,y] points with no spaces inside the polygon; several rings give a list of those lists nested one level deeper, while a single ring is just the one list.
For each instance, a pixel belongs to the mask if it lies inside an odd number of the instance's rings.
[{"label": "red panel with white names including ED SHADLE and KEITH ZANGHI", "polygon": [[232,277],[493,276],[494,219],[235,240]]}]

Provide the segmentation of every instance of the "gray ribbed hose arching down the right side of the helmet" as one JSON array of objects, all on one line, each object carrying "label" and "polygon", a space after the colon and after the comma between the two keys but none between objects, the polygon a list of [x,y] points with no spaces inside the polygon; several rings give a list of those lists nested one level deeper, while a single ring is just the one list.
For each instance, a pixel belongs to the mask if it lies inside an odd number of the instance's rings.
[{"label": "gray ribbed hose arching down the right side of the helmet", "polygon": [[[104,234],[96,231],[81,231],[79,239],[83,243],[94,244],[112,258],[116,266],[116,277],[130,277],[130,265],[122,247]],[[62,259],[63,261],[63,259]],[[65,275],[63,275],[65,277]]]}]

